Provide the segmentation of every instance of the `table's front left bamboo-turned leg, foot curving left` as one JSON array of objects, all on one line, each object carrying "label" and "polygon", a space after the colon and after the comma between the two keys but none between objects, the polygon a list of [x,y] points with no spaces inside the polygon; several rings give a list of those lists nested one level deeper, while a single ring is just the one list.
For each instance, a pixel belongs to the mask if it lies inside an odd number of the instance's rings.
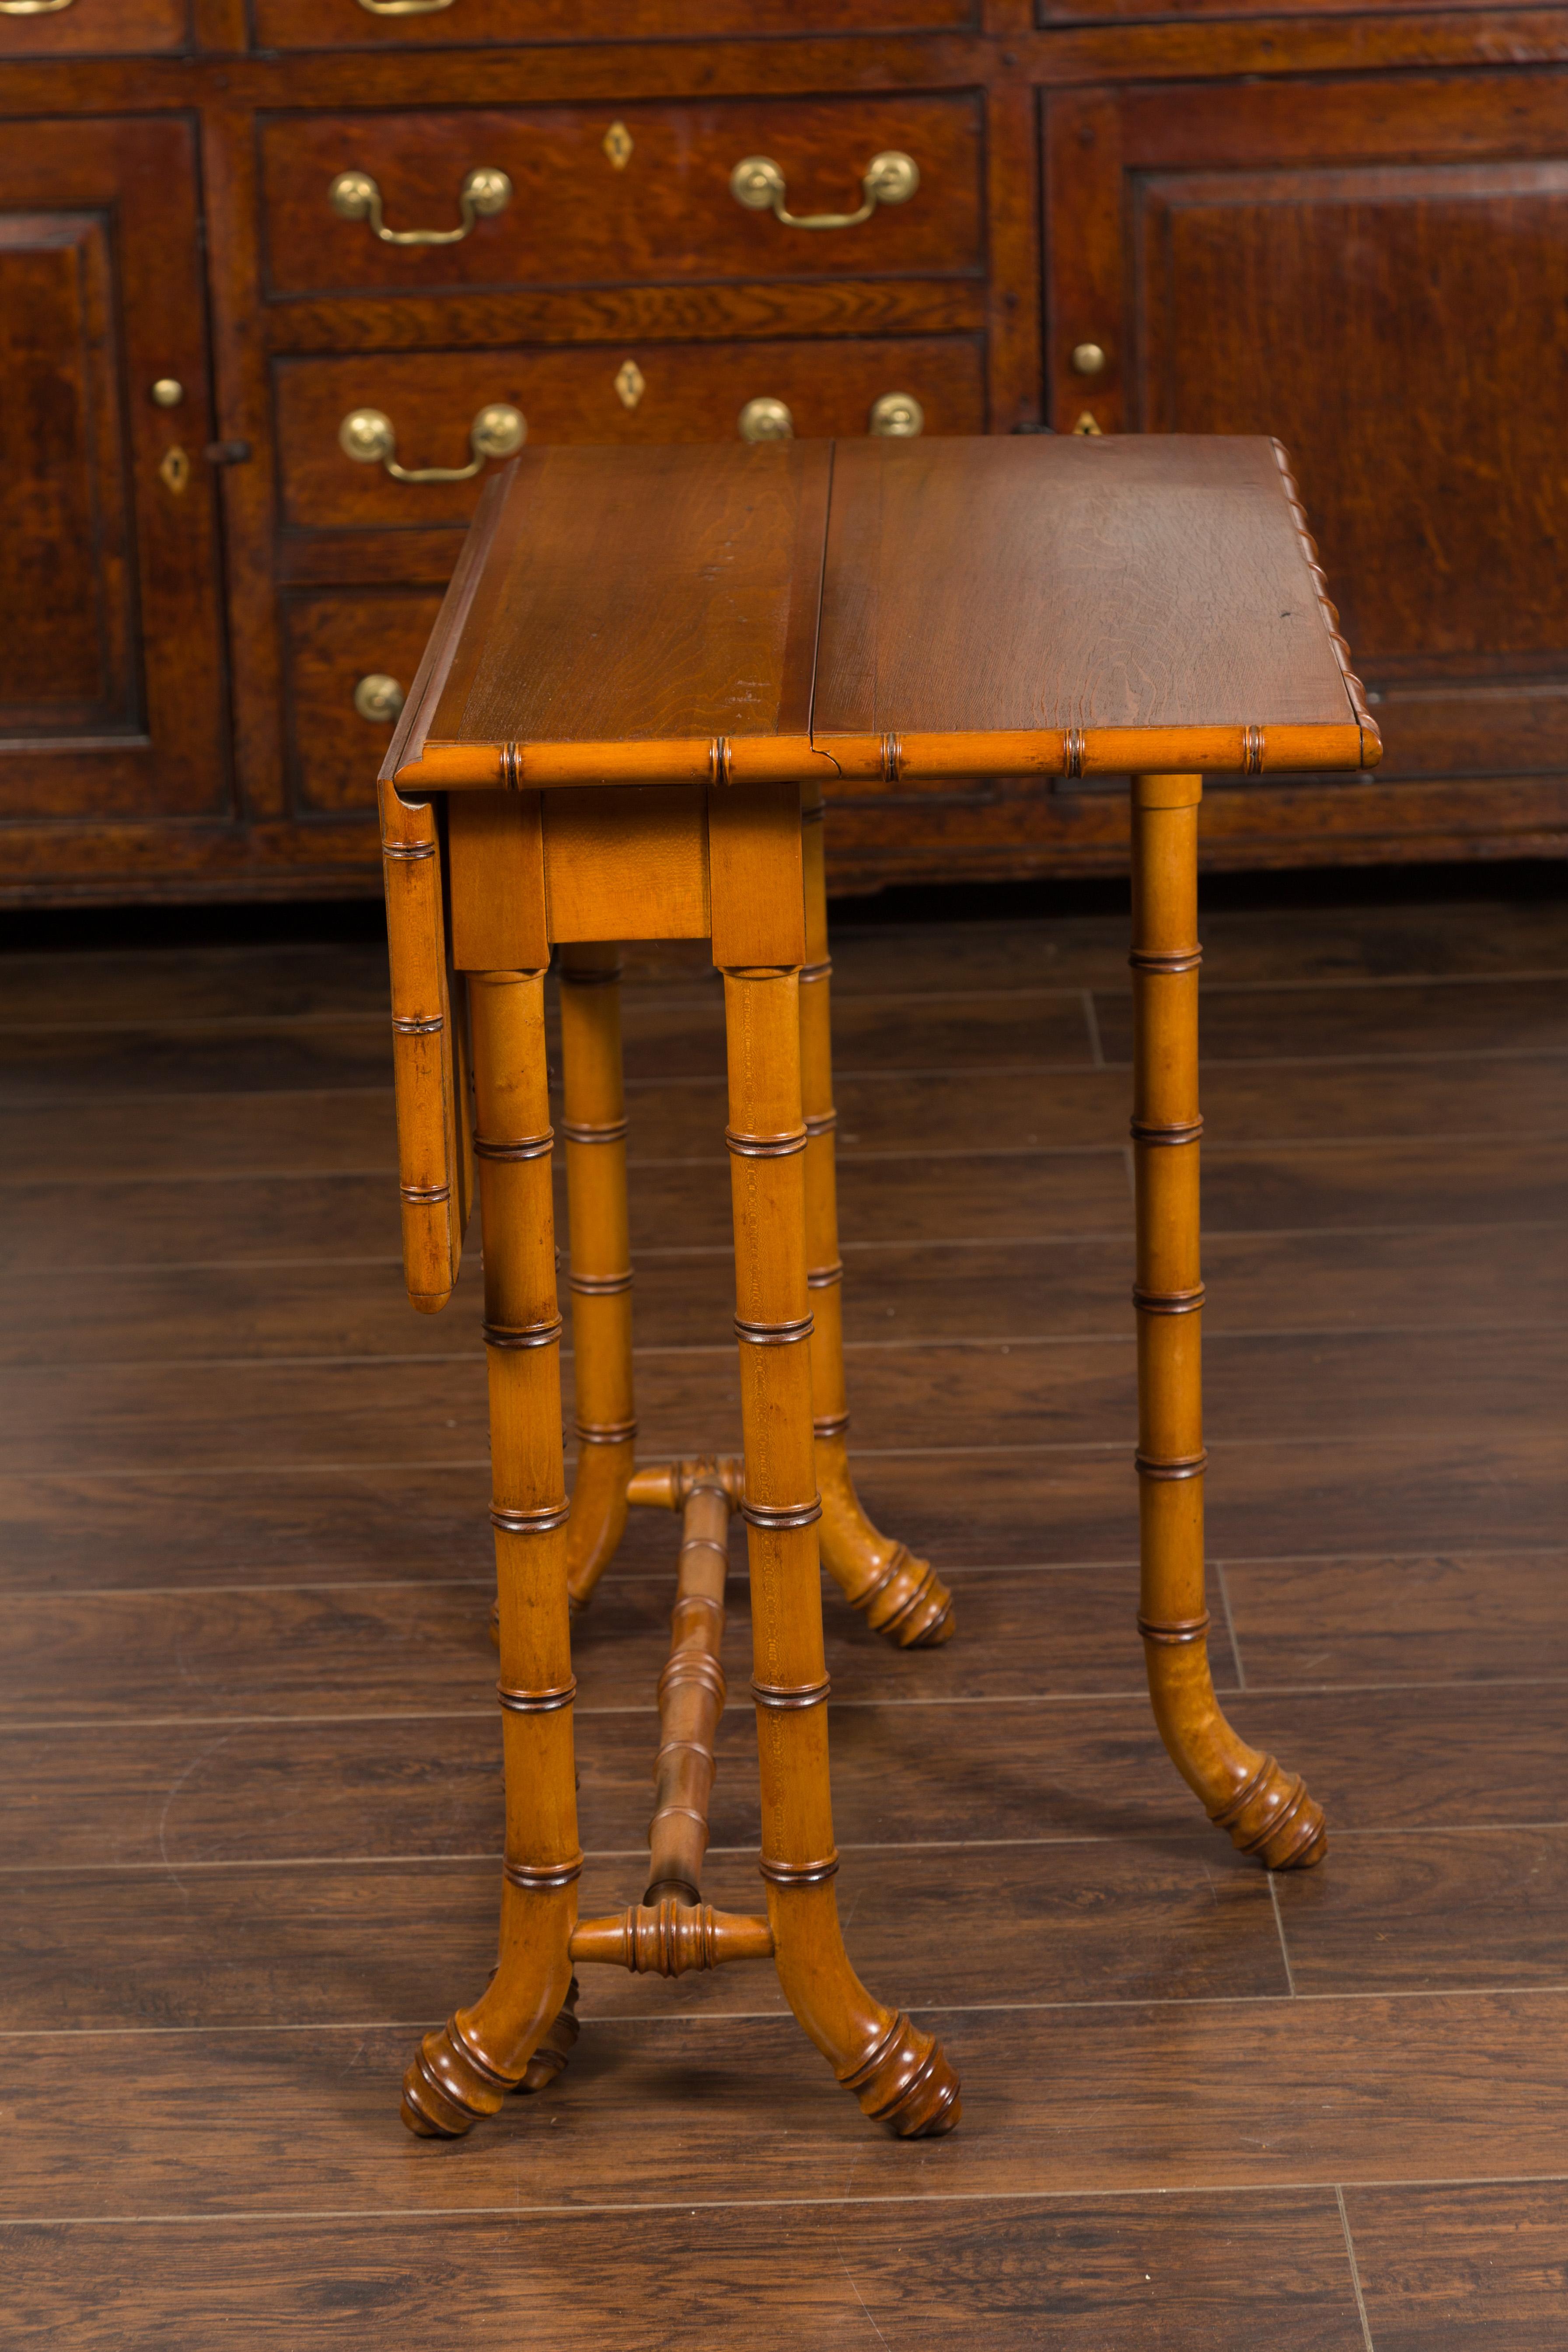
[{"label": "table's front left bamboo-turned leg, foot curving left", "polygon": [[[529,2072],[571,1990],[583,1867],[571,1757],[567,1472],[543,971],[473,976],[475,1155],[484,1214],[491,1522],[501,1597],[505,1870],[501,1957],[473,2009],[425,2034],[402,2086],[409,2131],[456,2138]],[[567,2042],[569,2046],[569,2042]],[[559,2051],[564,2063],[564,2051]],[[548,2060],[541,2060],[548,2072]]]}]

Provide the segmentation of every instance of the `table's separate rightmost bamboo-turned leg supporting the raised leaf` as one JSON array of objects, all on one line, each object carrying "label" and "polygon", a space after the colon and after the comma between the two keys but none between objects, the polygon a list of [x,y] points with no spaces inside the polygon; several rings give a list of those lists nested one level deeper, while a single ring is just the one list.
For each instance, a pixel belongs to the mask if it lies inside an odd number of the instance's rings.
[{"label": "table's separate rightmost bamboo-turned leg supporting the raised leaf", "polygon": [[1133,776],[1133,1160],[1138,1171],[1138,1486],[1143,1632],[1171,1762],[1244,1853],[1302,1870],[1326,1851],[1298,1773],[1220,1715],[1204,1606],[1204,1378],[1199,1270],[1201,776]]}]

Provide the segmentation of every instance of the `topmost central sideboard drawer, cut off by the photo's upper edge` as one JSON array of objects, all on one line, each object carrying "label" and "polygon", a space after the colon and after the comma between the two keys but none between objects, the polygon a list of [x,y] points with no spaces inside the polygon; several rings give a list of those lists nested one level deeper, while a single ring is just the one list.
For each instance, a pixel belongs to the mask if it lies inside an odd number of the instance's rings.
[{"label": "topmost central sideboard drawer, cut off by the photo's upper edge", "polygon": [[390,12],[388,0],[254,0],[254,21],[261,49],[454,49],[726,33],[966,33],[978,31],[980,9],[978,0],[423,0],[414,12]]}]

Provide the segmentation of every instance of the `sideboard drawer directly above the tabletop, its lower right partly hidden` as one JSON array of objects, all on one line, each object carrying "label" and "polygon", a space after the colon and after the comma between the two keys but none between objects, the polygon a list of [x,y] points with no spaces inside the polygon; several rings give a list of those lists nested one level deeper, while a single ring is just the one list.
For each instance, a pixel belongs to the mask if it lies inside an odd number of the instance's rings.
[{"label": "sideboard drawer directly above the tabletop, its lower right partly hidden", "polygon": [[912,395],[926,433],[985,430],[983,350],[969,336],[369,353],[280,360],[275,390],[282,520],[327,532],[465,522],[489,470],[402,482],[346,456],[343,421],[364,409],[390,423],[393,463],[407,468],[473,463],[473,426],[496,402],[534,442],[729,440],[757,400],[780,402],[802,440],[846,440],[872,430],[889,393]]}]

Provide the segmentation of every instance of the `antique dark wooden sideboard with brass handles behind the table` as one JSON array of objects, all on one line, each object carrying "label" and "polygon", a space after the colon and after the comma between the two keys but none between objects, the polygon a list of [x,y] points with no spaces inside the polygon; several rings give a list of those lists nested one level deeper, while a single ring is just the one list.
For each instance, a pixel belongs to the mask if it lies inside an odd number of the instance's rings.
[{"label": "antique dark wooden sideboard with brass handles behind the table", "polygon": [[[1561,854],[1566,386],[1568,7],[0,0],[0,894],[378,889],[524,433],[1272,433],[1387,753],[1208,861]],[[1126,793],[827,842],[1117,868]]]}]

